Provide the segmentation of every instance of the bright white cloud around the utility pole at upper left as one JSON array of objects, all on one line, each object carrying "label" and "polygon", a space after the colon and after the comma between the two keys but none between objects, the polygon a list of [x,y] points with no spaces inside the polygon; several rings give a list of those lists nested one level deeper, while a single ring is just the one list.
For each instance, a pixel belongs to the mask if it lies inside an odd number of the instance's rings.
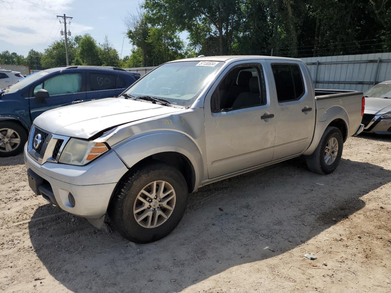
[{"label": "bright white cloud around the utility pole at upper left", "polygon": [[[57,30],[60,23],[57,20],[54,24],[56,15],[71,11],[72,2],[74,0],[0,0],[0,40],[13,45],[44,44],[53,28],[47,46],[59,36]],[[69,29],[72,36],[75,36],[92,30],[93,27],[71,20]]]}]

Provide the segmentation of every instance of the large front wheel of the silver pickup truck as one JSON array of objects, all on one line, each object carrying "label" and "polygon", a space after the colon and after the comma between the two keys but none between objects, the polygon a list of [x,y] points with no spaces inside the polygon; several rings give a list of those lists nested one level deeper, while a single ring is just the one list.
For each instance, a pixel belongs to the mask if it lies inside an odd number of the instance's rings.
[{"label": "large front wheel of the silver pickup truck", "polygon": [[136,243],[167,236],[185,213],[187,183],[176,168],[151,163],[126,175],[109,205],[113,227]]}]

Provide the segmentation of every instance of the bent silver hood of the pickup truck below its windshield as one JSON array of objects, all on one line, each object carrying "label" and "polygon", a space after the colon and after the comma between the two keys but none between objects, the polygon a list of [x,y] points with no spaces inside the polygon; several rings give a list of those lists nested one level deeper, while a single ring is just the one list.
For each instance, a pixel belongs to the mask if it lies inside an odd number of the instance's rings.
[{"label": "bent silver hood of the pickup truck below its windshield", "polygon": [[46,111],[34,120],[34,124],[53,134],[87,139],[117,125],[178,111],[183,109],[106,98]]}]

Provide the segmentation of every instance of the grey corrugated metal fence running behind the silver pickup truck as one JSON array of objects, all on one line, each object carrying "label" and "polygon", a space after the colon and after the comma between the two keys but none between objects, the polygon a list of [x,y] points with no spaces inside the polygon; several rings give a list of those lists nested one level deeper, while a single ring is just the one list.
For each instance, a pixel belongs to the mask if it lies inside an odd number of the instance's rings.
[{"label": "grey corrugated metal fence running behind the silver pickup truck", "polygon": [[[374,84],[391,80],[391,53],[302,58],[316,88],[365,92]],[[156,66],[125,68],[141,76]]]}]

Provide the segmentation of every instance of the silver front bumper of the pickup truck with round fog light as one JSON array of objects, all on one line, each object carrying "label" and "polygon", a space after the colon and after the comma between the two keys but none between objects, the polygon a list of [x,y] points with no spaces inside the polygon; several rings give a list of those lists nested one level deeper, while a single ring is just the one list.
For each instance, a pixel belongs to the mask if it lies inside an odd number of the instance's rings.
[{"label": "silver front bumper of the pickup truck with round fog light", "polygon": [[[113,150],[85,166],[50,162],[40,165],[30,157],[26,145],[24,160],[30,187],[37,195],[88,219],[100,219],[106,214],[115,186],[128,170]],[[74,206],[69,193],[74,197]]]}]

